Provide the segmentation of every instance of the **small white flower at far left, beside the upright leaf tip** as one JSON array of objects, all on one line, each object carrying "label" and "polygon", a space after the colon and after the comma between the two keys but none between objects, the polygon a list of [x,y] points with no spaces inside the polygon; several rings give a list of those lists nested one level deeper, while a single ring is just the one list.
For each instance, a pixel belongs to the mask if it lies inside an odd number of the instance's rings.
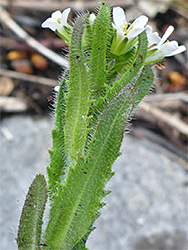
[{"label": "small white flower at far left, beside the upright leaf tip", "polygon": [[62,13],[57,10],[52,13],[51,17],[42,23],[42,28],[49,28],[58,33],[58,35],[67,42],[70,37],[72,27],[68,24],[67,19],[70,8],[65,9]]}]

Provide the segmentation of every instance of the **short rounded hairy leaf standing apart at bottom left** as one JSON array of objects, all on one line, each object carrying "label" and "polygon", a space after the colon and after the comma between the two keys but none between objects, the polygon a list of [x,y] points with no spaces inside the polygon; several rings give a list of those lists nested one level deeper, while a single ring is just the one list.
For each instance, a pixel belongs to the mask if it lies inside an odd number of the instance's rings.
[{"label": "short rounded hairy leaf standing apart at bottom left", "polygon": [[46,201],[46,181],[44,176],[39,173],[29,188],[22,210],[16,239],[19,250],[40,249],[42,216]]}]

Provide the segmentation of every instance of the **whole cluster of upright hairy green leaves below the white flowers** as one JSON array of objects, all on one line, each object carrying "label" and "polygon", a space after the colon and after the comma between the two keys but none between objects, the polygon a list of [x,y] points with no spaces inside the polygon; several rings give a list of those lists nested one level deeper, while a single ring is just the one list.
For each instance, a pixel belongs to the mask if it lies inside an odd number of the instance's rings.
[{"label": "whole cluster of upright hairy green leaves below the white flowers", "polygon": [[[87,33],[88,16],[85,13],[75,21],[70,69],[57,94],[47,168],[49,221],[41,236],[41,211],[46,198],[38,204],[40,212],[34,217],[23,212],[17,238],[19,249],[87,249],[86,240],[105,205],[102,199],[110,192],[105,185],[113,176],[111,167],[119,156],[126,124],[153,83],[151,66],[144,64],[145,32],[138,36],[137,46],[114,56],[110,53],[115,32],[110,7],[101,4],[92,32]],[[44,187],[41,180],[36,181],[38,191],[30,192],[34,200]],[[23,211],[27,207],[28,202]],[[28,248],[30,241],[33,242]]]}]

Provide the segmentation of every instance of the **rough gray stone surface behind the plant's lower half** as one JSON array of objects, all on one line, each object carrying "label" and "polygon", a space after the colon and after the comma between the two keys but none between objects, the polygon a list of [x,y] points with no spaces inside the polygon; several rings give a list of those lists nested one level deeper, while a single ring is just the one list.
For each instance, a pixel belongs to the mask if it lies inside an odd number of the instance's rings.
[{"label": "rough gray stone surface behind the plant's lower half", "polygon": [[[13,116],[1,122],[1,250],[15,250],[27,189],[45,172],[51,119]],[[145,139],[126,135],[107,188],[107,206],[88,241],[90,250],[187,250],[188,174],[182,162]]]}]

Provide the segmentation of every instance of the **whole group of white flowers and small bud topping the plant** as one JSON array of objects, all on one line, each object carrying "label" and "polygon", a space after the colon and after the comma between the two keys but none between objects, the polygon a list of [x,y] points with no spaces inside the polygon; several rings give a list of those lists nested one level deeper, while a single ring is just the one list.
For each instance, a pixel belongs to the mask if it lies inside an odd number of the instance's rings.
[{"label": "whole group of white flowers and small bud topping the plant", "polygon": [[[66,42],[69,41],[72,27],[68,24],[67,19],[70,8],[52,13],[51,17],[42,23],[43,28],[50,28],[56,31]],[[91,27],[94,24],[96,16],[92,13],[89,16]],[[152,32],[151,26],[147,25],[148,17],[142,15],[133,22],[128,22],[124,10],[120,7],[113,8],[112,26],[116,30],[111,45],[111,53],[120,56],[128,52],[137,44],[137,37],[144,30],[148,39],[148,55],[146,63],[154,63],[163,60],[165,57],[174,56],[186,50],[184,45],[179,46],[176,41],[167,41],[168,37],[174,31],[173,26],[169,26],[162,38],[157,32]],[[69,30],[69,32],[68,32]]]}]

